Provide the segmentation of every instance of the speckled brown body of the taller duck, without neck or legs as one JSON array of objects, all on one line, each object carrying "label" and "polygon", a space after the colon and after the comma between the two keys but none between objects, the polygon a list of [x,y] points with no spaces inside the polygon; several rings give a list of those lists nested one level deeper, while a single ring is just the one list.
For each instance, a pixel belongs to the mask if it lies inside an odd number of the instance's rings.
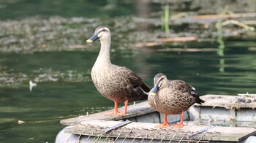
[{"label": "speckled brown body of the taller duck, without neck or legs", "polygon": [[124,66],[113,64],[94,66],[91,70],[91,78],[99,93],[112,101],[138,101],[148,98],[140,88],[146,92],[150,88],[140,77]]}]

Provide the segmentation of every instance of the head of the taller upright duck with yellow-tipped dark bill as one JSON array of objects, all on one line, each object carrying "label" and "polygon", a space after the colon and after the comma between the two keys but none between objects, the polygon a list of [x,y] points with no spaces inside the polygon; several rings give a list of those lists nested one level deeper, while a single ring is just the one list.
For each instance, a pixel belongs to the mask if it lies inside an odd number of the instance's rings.
[{"label": "head of the taller upright duck with yellow-tipped dark bill", "polygon": [[96,28],[96,30],[94,31],[94,35],[91,36],[90,39],[86,40],[87,43],[91,43],[94,42],[95,40],[99,39],[100,41],[103,40],[110,40],[111,38],[111,34],[110,34],[110,30],[107,26],[99,26]]}]

